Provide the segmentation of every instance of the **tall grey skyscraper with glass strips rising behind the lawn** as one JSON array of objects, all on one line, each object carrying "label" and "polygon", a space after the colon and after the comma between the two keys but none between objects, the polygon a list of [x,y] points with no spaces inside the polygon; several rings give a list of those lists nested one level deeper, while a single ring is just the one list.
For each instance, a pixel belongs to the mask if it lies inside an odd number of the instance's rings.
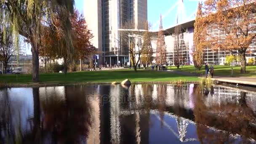
[{"label": "tall grey skyscraper with glass strips rising behind the lawn", "polygon": [[92,44],[101,52],[100,63],[125,64],[128,47],[122,48],[120,32],[133,21],[132,28],[144,29],[147,0],[85,0],[85,19],[93,33]]}]

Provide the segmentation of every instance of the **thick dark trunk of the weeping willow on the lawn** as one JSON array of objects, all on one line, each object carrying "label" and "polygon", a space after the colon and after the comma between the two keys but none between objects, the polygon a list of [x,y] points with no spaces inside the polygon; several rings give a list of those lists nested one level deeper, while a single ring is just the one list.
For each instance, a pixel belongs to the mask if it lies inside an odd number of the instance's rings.
[{"label": "thick dark trunk of the weeping willow on the lawn", "polygon": [[39,53],[38,47],[35,44],[32,44],[32,81],[39,81]]}]

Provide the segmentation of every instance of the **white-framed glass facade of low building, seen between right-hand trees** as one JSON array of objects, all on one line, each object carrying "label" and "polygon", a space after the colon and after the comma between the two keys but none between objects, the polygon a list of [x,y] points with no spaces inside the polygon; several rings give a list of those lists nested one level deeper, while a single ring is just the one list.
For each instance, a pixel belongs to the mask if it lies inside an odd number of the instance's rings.
[{"label": "white-framed glass facade of low building, seen between right-hand trees", "polygon": [[[256,24],[250,24],[249,27],[254,27],[255,29],[252,29],[251,32],[256,33]],[[193,58],[192,53],[194,51],[194,44],[193,44],[193,34],[194,34],[194,28],[193,27],[183,27],[183,39],[181,39],[181,45],[179,48],[179,56],[180,56],[180,63],[181,64],[193,64]],[[211,37],[219,37],[219,39],[225,38],[225,33],[222,32],[219,29],[208,29],[207,30],[208,35],[211,35]],[[207,40],[210,40],[210,37],[207,37]],[[171,42],[170,42],[171,41]],[[220,41],[221,42],[221,41]],[[176,41],[175,37],[171,36],[170,34],[165,36],[165,43],[167,47],[167,62],[169,64],[173,64],[173,61],[175,57],[177,56],[176,49]],[[234,51],[221,51],[213,50],[212,48],[205,48],[203,51],[203,61],[208,62],[211,64],[225,64],[226,56],[229,56],[230,54],[233,55],[239,55],[237,50]],[[254,43],[251,43],[250,47],[247,49],[246,53],[246,59],[248,61],[249,58],[254,59],[254,64],[256,64],[256,39],[254,39]]]}]

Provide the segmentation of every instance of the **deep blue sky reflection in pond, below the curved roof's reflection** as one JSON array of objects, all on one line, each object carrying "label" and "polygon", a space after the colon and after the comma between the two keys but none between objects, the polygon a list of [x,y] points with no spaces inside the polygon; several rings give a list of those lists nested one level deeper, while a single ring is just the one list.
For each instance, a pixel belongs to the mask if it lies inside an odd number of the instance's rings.
[{"label": "deep blue sky reflection in pond, below the curved roof's reflection", "polygon": [[[177,120],[181,123],[187,123],[188,125],[177,125]],[[183,119],[181,117],[176,117],[174,115],[164,115],[163,121],[160,120],[160,114],[156,111],[150,112],[150,128],[149,128],[149,141],[150,144],[156,143],[182,143],[180,141],[179,130],[184,127],[186,130],[186,136],[184,141],[189,141],[190,144],[198,144],[197,136],[195,135],[196,128],[193,123],[189,120]],[[179,127],[179,128],[178,128]],[[184,131],[183,131],[184,132]],[[182,132],[181,132],[182,133]]]}]

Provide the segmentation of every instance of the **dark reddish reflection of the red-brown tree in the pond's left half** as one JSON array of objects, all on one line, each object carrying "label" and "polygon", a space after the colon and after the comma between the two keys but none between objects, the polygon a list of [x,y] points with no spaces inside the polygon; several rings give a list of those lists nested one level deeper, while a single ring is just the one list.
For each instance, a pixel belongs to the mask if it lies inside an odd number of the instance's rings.
[{"label": "dark reddish reflection of the red-brown tree in the pond's left half", "polygon": [[88,127],[91,126],[90,105],[84,96],[88,90],[85,86],[67,86],[64,88],[64,99],[52,91],[47,93],[47,99],[41,101],[43,129],[50,134],[50,141],[85,143]]}]

